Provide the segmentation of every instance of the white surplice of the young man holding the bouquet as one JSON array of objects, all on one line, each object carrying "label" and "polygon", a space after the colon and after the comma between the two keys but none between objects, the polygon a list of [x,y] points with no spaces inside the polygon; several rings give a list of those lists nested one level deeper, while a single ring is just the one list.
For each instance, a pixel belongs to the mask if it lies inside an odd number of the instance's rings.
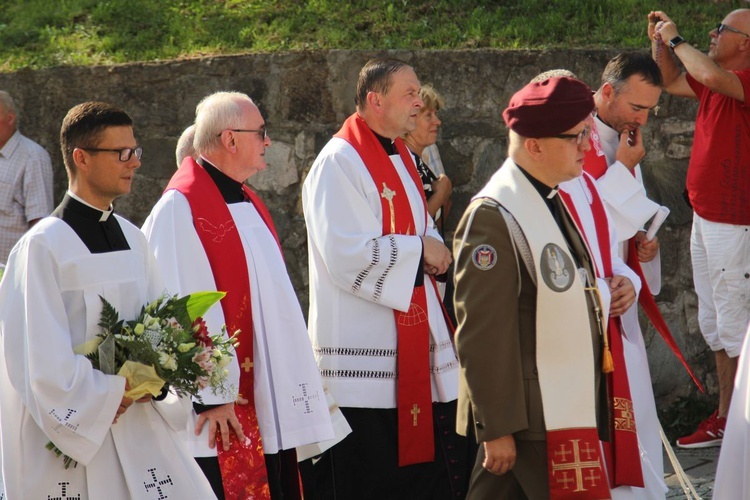
[{"label": "white surplice of the young man holding the bouquet", "polygon": [[[125,379],[73,352],[101,332],[100,296],[133,319],[162,291],[145,238],[118,222],[130,250],[91,254],[67,223],[46,218],[11,253],[0,285],[0,425],[11,500],[214,498],[157,410],[163,403],[134,403],[112,424]],[[45,449],[50,440],[78,466],[65,469]]]}]

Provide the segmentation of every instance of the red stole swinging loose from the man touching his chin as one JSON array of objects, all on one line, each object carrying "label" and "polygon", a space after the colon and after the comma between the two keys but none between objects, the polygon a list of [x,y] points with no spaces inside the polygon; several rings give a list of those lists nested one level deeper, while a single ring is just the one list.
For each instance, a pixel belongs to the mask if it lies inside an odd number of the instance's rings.
[{"label": "red stole swinging loose from the man touching his chin", "polygon": [[[598,152],[601,152],[601,155],[599,155]],[[586,156],[583,159],[583,169],[588,172],[594,179],[598,179],[599,177],[604,175],[608,168],[609,166],[607,165],[607,158],[604,155],[601,144],[599,142],[599,135],[591,134],[591,148],[586,152]],[[633,176],[635,176],[635,171],[632,171],[632,174]],[[651,321],[651,324],[654,325],[656,331],[659,332],[661,338],[664,339],[664,342],[666,342],[667,346],[669,346],[677,359],[680,360],[680,363],[682,363],[682,366],[685,367],[685,370],[687,370],[688,375],[690,375],[690,378],[693,379],[693,382],[698,387],[698,389],[700,389],[701,392],[705,392],[703,389],[703,385],[698,380],[698,377],[696,377],[693,373],[693,370],[685,360],[685,356],[683,356],[680,347],[677,345],[677,342],[675,342],[674,337],[672,336],[672,332],[669,331],[669,327],[667,326],[666,321],[664,321],[664,318],[661,315],[661,311],[659,311],[659,306],[656,305],[656,300],[654,300],[654,296],[648,287],[648,282],[643,276],[643,269],[641,269],[641,263],[638,260],[638,251],[635,247],[635,237],[628,240],[627,264],[628,267],[635,271],[635,273],[641,279],[641,293],[638,295],[638,303],[643,308],[643,312],[646,313],[646,316],[648,317],[649,321]]]}]

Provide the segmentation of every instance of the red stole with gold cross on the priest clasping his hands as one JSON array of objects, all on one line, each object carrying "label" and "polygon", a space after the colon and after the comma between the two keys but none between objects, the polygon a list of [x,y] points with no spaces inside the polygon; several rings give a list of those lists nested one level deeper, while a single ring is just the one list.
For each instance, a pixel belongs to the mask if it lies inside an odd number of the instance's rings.
[{"label": "red stole with gold cross on the priest clasping his hands", "polygon": [[[352,145],[362,158],[375,185],[379,190],[382,189],[380,201],[383,210],[383,235],[416,235],[406,189],[391,159],[365,121],[356,113],[351,115],[335,137],[344,139]],[[427,201],[414,161],[400,138],[394,141],[394,145],[422,195],[426,224]],[[412,166],[414,168],[410,168]],[[398,464],[403,467],[435,460],[430,383],[430,324],[424,285],[414,287],[407,312],[394,309],[393,313],[398,335]]]}]

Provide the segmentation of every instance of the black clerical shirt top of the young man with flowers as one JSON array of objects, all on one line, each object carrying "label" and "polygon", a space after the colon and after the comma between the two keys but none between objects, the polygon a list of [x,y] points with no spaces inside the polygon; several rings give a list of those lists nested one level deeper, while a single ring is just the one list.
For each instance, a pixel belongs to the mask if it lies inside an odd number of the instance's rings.
[{"label": "black clerical shirt top of the young man with flowers", "polygon": [[62,202],[50,216],[68,224],[91,253],[130,250],[113,212],[106,213],[90,207],[65,193]]}]

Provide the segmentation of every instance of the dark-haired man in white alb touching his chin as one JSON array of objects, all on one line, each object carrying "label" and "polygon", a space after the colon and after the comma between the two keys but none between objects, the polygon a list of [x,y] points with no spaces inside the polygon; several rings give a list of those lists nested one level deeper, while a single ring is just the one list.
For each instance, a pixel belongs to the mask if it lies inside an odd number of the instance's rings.
[{"label": "dark-haired man in white alb touching his chin", "polygon": [[[584,169],[596,179],[612,217],[619,240],[618,253],[641,278],[639,303],[644,305],[647,301],[644,310],[655,324],[661,319],[653,300],[653,295],[661,290],[659,240],[654,237],[649,241],[644,226],[659,205],[646,195],[639,161],[645,155],[641,127],[659,102],[660,85],[659,68],[647,53],[622,53],[608,62],[602,85],[594,94],[595,127],[584,162]],[[645,486],[622,488],[613,494],[615,498],[664,498],[667,490],[659,419],[638,307],[631,307],[622,315],[622,326]],[[671,340],[668,329],[660,333]]]}]

